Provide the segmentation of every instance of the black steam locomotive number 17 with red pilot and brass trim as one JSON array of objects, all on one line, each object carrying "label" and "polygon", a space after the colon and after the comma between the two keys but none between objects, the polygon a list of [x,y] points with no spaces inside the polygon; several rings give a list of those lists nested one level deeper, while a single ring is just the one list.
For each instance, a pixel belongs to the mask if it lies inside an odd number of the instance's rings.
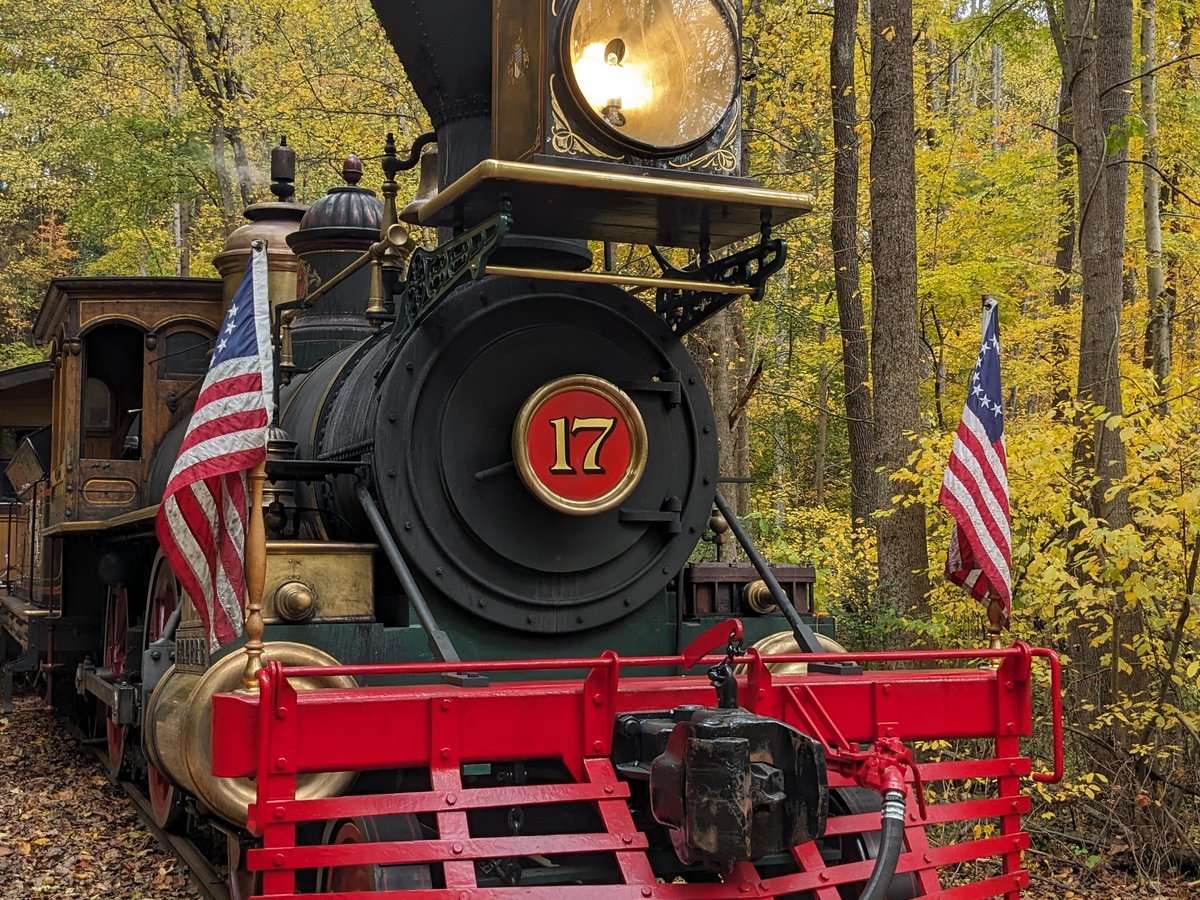
[{"label": "black steam locomotive number 17 with red pilot and brass trim", "polygon": [[[901,898],[968,860],[946,895],[1015,896],[1032,660],[1057,660],[826,653],[811,570],[768,565],[719,493],[682,338],[761,299],[811,206],[739,174],[739,5],[376,10],[436,130],[407,158],[389,136],[382,202],[350,158],[294,203],[281,145],[222,281],[52,286],[52,426],[7,467],[7,684],[44,673],[160,826],[227,835],[236,896]],[[154,533],[252,245],[282,385],[247,546],[262,668],[210,652]],[[749,563],[689,562],[727,533]],[[898,660],[924,667],[870,670]],[[989,743],[918,762],[932,738]],[[923,780],[964,779],[994,790],[925,808]],[[930,846],[959,820],[995,834]]]}]

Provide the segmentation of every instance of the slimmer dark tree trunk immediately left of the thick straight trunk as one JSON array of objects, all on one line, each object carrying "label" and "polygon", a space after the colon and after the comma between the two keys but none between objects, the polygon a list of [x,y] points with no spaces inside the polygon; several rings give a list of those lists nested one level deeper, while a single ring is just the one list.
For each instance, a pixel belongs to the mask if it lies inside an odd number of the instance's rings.
[{"label": "slimmer dark tree trunk immediately left of the thick straight trunk", "polygon": [[850,438],[850,511],[866,522],[878,487],[871,444],[870,358],[858,277],[858,122],[854,97],[854,34],[858,0],[834,0],[829,73],[833,85],[833,280],[841,330],[846,431]]}]

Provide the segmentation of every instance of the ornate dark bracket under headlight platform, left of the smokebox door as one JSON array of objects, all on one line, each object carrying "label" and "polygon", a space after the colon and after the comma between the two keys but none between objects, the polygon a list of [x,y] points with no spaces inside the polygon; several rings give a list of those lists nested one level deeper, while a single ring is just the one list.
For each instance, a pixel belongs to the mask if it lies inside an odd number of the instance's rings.
[{"label": "ornate dark bracket under headlight platform, left of the smokebox door", "polygon": [[407,335],[421,317],[468,275],[472,281],[484,277],[487,260],[511,227],[512,214],[504,210],[437,250],[418,248],[408,263],[408,280],[401,296],[402,314],[396,319],[396,336]]}]

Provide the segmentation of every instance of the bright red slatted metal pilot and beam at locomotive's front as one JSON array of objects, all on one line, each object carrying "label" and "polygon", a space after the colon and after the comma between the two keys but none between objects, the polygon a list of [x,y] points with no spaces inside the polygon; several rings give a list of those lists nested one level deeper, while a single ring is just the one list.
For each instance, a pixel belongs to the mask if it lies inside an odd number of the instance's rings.
[{"label": "bright red slatted metal pilot and beam at locomotive's front", "polygon": [[[1034,658],[1050,665],[1055,768],[1038,780],[1062,776],[1062,706],[1060,667],[1050,650],[1014,644],[1000,650],[918,650],[863,653],[860,662],[906,661],[935,665],[950,660],[994,659],[994,668],[919,668],[868,671],[859,676],[773,676],[768,662],[821,659],[790,654],[764,659],[749,650],[739,678],[739,701],[760,715],[780,719],[820,738],[830,758],[832,787],[863,779],[863,744],[896,740],[990,738],[994,756],[905,768],[907,780],[925,784],[964,781],[994,784],[994,796],[970,797],[919,809],[910,792],[905,852],[898,872],[911,872],[922,896],[974,900],[1016,898],[1028,883],[1021,851],[1028,835],[1021,815],[1030,800],[1021,778],[1031,774],[1020,755],[1020,738],[1032,732],[1031,667]],[[827,659],[827,658],[826,658]],[[299,896],[295,874],[335,865],[440,865],[444,888],[320,896],[355,900],[403,896],[407,900],[592,900],[660,898],[661,900],[732,900],[733,898],[811,896],[839,900],[839,886],[860,883],[870,862],[827,866],[815,842],[792,851],[796,871],[764,877],[751,863],[739,863],[720,883],[659,883],[646,853],[647,835],[634,824],[626,803],[629,786],[617,779],[610,757],[614,719],[620,713],[666,710],[694,703],[712,706],[713,688],[704,677],[623,677],[623,670],[680,666],[680,656],[511,660],[463,664],[354,665],[332,668],[283,668],[269,664],[259,672],[259,692],[218,695],[214,700],[212,769],[227,778],[258,779],[250,829],[262,847],[248,854],[248,866],[263,874],[263,894],[271,900]],[[696,652],[686,661],[696,661]],[[715,661],[712,658],[706,661]],[[312,674],[436,676],[473,672],[528,672],[546,676],[583,670],[582,679],[492,683],[487,686],[416,684],[388,688],[317,690],[298,694],[289,678]],[[568,673],[569,674],[569,673]],[[892,742],[894,745],[894,742]],[[562,760],[574,782],[505,787],[464,786],[462,764],[535,758]],[[856,762],[857,761],[857,762]],[[876,760],[877,762],[877,760]],[[420,768],[430,772],[431,790],[412,793],[296,799],[298,776],[312,772]],[[922,792],[923,793],[923,792]],[[923,799],[923,798],[922,798]],[[523,834],[479,838],[469,832],[467,811],[533,804],[589,803],[604,830],[588,834]],[[431,840],[337,846],[298,846],[304,822],[371,815],[427,815],[437,823]],[[962,834],[971,840],[930,846],[926,826],[982,822]],[[832,816],[827,838],[874,832],[876,815]],[[622,883],[538,887],[479,887],[476,859],[528,856],[612,854]],[[980,880],[943,889],[937,869],[992,858]],[[312,895],[306,895],[312,896]]]}]

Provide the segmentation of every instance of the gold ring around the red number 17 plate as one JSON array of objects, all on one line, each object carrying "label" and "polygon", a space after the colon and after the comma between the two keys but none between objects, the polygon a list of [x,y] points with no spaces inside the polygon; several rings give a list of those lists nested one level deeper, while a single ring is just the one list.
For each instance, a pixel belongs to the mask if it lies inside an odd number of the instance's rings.
[{"label": "gold ring around the red number 17 plate", "polygon": [[[551,490],[538,476],[529,460],[528,434],[534,416],[547,401],[566,391],[587,391],[604,398],[613,407],[613,412],[620,416],[629,431],[630,451],[625,472],[616,485],[598,497],[587,499],[564,497]],[[516,422],[512,425],[512,461],[516,463],[521,481],[544,504],[570,516],[594,516],[622,503],[634,492],[646,472],[647,452],[646,422],[642,420],[637,404],[616,384],[596,376],[572,374],[547,382],[522,404]]]}]

